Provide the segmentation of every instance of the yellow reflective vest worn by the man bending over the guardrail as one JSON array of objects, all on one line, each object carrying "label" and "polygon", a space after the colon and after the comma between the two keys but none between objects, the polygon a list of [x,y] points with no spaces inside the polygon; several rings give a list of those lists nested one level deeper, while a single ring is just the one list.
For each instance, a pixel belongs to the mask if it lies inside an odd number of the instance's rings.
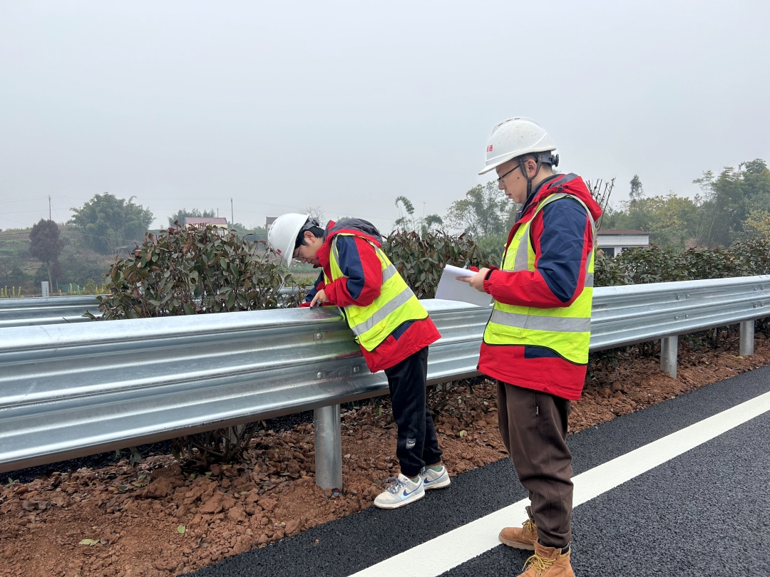
[{"label": "yellow reflective vest worn by the man bending over the guardrail", "polygon": [[[338,232],[332,239],[329,268],[332,278],[326,278],[325,282],[335,281],[337,278],[345,278],[340,270],[340,253],[336,247],[339,236],[358,236],[347,232]],[[380,259],[383,272],[383,284],[380,295],[368,306],[348,305],[343,307],[347,324],[356,335],[358,342],[367,351],[372,351],[380,342],[387,339],[391,332],[395,331],[403,322],[427,319],[428,312],[420,304],[412,289],[398,274],[396,267],[390,262],[384,252],[364,236],[359,236],[369,242]]]}]

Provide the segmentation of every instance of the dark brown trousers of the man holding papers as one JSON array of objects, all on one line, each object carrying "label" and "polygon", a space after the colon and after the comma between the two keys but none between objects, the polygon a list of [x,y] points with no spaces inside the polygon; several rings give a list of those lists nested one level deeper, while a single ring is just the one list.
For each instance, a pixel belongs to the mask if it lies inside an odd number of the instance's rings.
[{"label": "dark brown trousers of the man holding papers", "polygon": [[572,540],[572,454],[566,442],[570,411],[567,399],[497,382],[500,435],[529,491],[537,540],[544,547],[564,547]]}]

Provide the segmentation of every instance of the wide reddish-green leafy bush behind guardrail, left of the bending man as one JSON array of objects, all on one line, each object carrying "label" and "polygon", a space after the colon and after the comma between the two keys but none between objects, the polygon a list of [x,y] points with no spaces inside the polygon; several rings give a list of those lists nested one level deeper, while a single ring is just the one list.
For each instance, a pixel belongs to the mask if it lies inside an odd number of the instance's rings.
[{"label": "wide reddish-green leafy bush behind guardrail, left of the bending man", "polygon": [[107,285],[98,297],[105,320],[277,309],[302,297],[280,294],[293,278],[264,242],[213,226],[147,235],[132,257],[116,259]]}]

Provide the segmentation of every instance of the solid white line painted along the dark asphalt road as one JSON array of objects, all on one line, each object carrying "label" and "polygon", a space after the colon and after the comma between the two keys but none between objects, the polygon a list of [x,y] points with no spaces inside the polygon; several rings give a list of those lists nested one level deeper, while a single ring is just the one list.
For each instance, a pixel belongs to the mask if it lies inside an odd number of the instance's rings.
[{"label": "solid white line painted along the dark asphalt road", "polygon": [[[573,506],[577,507],[590,501],[768,411],[770,411],[770,392],[581,473],[572,479],[574,482]],[[399,555],[394,555],[390,559],[385,559],[377,565],[371,565],[350,577],[392,577],[393,575],[436,577],[500,545],[497,540],[500,529],[521,525],[527,519],[524,507],[528,502],[529,499],[522,499]]]}]

